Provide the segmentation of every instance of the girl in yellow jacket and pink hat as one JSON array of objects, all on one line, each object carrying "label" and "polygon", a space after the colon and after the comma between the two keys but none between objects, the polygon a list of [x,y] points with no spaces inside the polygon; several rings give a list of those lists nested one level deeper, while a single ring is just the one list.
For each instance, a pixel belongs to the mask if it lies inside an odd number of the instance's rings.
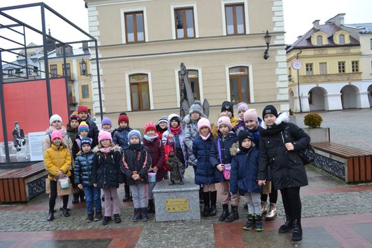
[{"label": "girl in yellow jacket and pink hat", "polygon": [[[58,179],[71,176],[69,170],[71,165],[70,149],[62,142],[62,133],[58,130],[54,130],[50,136],[52,147],[46,149],[44,155],[44,163],[48,171],[48,178],[46,180],[50,180],[48,221],[54,220],[54,205],[56,205]],[[70,216],[67,205],[68,195],[64,195],[62,211],[65,217]]]}]

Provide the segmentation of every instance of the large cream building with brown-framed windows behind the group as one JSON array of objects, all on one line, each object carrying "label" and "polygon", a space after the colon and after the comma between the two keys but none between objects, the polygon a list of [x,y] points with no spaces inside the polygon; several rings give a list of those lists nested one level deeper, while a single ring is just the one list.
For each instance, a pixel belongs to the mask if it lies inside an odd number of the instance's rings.
[{"label": "large cream building with brown-framed windows behind the group", "polygon": [[[113,123],[123,111],[132,127],[179,113],[181,62],[194,96],[208,99],[211,121],[225,100],[246,101],[259,112],[268,104],[289,110],[281,0],[85,2],[90,34],[99,45],[103,112]],[[266,30],[271,34],[267,60]],[[96,64],[91,63],[99,116]]]}]

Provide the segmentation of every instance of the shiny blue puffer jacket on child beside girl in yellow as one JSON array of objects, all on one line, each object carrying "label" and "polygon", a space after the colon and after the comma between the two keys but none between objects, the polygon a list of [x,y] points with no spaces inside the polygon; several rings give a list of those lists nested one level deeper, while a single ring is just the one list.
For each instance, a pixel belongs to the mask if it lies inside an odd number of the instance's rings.
[{"label": "shiny blue puffer jacket on child beside girl in yellow", "polygon": [[83,187],[93,186],[92,169],[93,169],[94,153],[78,152],[75,158],[74,180],[75,184],[81,184]]}]

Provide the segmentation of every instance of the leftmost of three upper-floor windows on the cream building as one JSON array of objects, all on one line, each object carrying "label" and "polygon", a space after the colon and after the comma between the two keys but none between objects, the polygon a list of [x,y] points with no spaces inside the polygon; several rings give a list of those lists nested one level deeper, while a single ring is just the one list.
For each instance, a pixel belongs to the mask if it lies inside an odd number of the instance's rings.
[{"label": "leftmost of three upper-floor windows on the cream building", "polygon": [[125,13],[125,38],[127,43],[145,41],[143,11]]}]

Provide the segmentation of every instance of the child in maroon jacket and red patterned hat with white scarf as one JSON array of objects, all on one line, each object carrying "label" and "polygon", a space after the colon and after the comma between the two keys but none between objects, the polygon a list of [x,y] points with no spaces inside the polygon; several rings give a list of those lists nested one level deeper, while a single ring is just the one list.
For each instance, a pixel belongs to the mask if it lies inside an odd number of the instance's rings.
[{"label": "child in maroon jacket and red patterned hat with white scarf", "polygon": [[147,198],[149,199],[149,207],[147,208],[147,212],[155,213],[152,189],[154,189],[157,182],[163,180],[166,171],[164,169],[164,146],[161,140],[158,139],[155,123],[152,121],[145,124],[145,135],[143,136],[142,143],[149,149],[149,154],[151,155],[152,165],[149,169],[149,172],[156,173],[155,182],[149,182],[149,187],[147,189]]}]

